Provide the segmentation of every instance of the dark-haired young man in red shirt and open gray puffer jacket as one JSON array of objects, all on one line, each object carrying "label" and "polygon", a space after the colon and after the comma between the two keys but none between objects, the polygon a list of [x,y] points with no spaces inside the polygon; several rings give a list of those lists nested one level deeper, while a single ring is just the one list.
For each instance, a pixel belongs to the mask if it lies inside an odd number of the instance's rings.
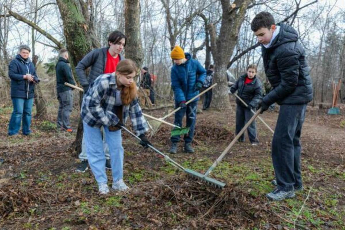
[{"label": "dark-haired young man in red shirt and open gray puffer jacket", "polygon": [[[78,63],[76,67],[77,76],[80,84],[84,89],[84,93],[89,88],[89,85],[103,73],[113,73],[116,71],[116,66],[119,61],[125,59],[121,52],[126,46],[126,35],[120,31],[110,33],[108,37],[108,47],[95,49],[86,54],[86,56]],[[87,78],[85,70],[90,67],[90,74]],[[106,168],[111,169],[109,148],[105,142],[105,132],[101,128],[103,134],[103,150],[106,155]],[[85,148],[84,136],[81,144],[81,153],[79,159],[80,165],[77,167],[77,172],[85,172],[88,169],[87,154]]]}]

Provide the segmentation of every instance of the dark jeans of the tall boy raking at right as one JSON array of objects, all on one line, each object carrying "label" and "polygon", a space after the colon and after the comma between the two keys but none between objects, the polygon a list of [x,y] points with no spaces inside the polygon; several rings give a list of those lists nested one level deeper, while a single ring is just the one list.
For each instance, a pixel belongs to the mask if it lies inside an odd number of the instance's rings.
[{"label": "dark jeans of the tall boy raking at right", "polygon": [[272,140],[272,161],[278,188],[284,191],[302,186],[299,137],[306,108],[306,104],[283,104],[279,109]]}]

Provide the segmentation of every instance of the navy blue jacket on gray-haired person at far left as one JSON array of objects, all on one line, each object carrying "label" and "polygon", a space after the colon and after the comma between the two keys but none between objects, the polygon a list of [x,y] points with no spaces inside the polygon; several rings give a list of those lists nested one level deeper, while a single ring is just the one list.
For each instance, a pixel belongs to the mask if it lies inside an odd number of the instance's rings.
[{"label": "navy blue jacket on gray-haired person at far left", "polygon": [[33,98],[34,82],[23,79],[23,75],[27,73],[33,76],[35,83],[39,82],[30,58],[24,60],[17,54],[8,67],[8,75],[11,79],[11,98]]}]

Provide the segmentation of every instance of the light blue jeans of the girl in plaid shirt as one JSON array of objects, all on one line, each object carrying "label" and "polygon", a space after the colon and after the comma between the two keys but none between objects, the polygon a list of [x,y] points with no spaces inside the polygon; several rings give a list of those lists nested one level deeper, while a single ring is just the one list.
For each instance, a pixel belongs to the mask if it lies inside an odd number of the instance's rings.
[{"label": "light blue jeans of the girl in plaid shirt", "polygon": [[[83,122],[87,158],[91,171],[98,184],[107,183],[106,158],[103,151],[102,134],[99,127],[91,127]],[[121,130],[109,131],[104,127],[105,139],[109,146],[110,164],[113,181],[122,179],[124,166],[124,148],[122,147]]]}]

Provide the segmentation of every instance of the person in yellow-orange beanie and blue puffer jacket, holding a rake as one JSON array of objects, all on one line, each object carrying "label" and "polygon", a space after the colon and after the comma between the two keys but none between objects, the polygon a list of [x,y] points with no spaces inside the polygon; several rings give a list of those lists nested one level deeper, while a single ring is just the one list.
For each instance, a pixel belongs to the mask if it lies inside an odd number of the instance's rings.
[{"label": "person in yellow-orange beanie and blue puffer jacket, holding a rake", "polygon": [[[171,50],[170,57],[175,63],[171,68],[171,87],[174,91],[175,108],[181,107],[175,113],[174,124],[182,127],[182,120],[186,115],[186,126],[190,129],[189,133],[184,136],[184,151],[193,153],[194,149],[191,146],[191,142],[194,137],[196,110],[199,99],[195,99],[188,105],[186,105],[186,101],[199,94],[199,90],[206,79],[206,70],[197,60],[192,59],[189,53],[185,53],[180,46],[175,46]],[[169,153],[176,154],[180,136],[172,136],[170,141]]]}]

